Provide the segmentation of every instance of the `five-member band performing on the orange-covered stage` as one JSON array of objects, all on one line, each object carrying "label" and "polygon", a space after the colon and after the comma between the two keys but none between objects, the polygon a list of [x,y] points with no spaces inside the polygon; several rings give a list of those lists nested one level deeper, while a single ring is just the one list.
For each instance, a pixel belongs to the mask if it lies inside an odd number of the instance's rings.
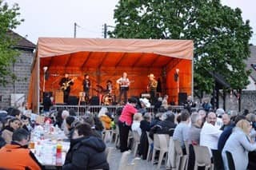
[{"label": "five-member band performing on the orange-covered stage", "polygon": [[[148,85],[146,87],[146,92],[150,93],[150,103],[154,105],[154,103],[157,101],[156,93],[158,88],[158,81],[156,81],[154,78],[154,74],[150,73],[148,75],[149,81]],[[60,89],[63,92],[63,101],[64,103],[69,103],[69,97],[70,97],[70,90],[71,86],[74,85],[74,78],[70,78],[68,73],[65,73],[65,76],[62,77],[61,81],[59,82]],[[113,105],[113,104],[120,104],[125,105],[127,102],[127,93],[130,88],[131,81],[128,78],[128,75],[126,72],[122,73],[122,77],[119,77],[116,81],[116,84],[118,87],[116,89],[119,89],[119,95],[118,99],[116,100],[115,93],[114,92],[114,85],[113,82],[110,80],[106,81],[106,89],[102,87],[102,85],[96,85],[97,89],[94,89],[98,93],[100,104],[102,105]],[[88,105],[90,104],[90,89],[91,89],[91,81],[88,74],[84,75],[84,78],[82,80],[82,87],[83,92],[79,93],[79,105],[81,104],[80,101],[82,101],[84,104]]]}]

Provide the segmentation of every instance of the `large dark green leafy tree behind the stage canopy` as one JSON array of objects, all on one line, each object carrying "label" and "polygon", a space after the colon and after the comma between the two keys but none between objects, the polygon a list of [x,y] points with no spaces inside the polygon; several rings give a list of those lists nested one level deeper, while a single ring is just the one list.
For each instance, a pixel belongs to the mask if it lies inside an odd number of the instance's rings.
[{"label": "large dark green leafy tree behind the stage canopy", "polygon": [[194,40],[194,87],[210,93],[220,73],[233,89],[248,85],[250,22],[220,0],[120,0],[111,38]]}]

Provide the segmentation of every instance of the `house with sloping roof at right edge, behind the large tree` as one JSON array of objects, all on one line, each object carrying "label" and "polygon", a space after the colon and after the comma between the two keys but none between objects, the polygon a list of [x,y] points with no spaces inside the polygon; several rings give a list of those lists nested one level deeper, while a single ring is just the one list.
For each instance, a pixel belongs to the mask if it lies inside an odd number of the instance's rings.
[{"label": "house with sloping roof at right edge, behind the large tree", "polygon": [[256,45],[250,46],[250,57],[246,60],[246,69],[250,70],[250,84],[244,90],[256,90]]}]

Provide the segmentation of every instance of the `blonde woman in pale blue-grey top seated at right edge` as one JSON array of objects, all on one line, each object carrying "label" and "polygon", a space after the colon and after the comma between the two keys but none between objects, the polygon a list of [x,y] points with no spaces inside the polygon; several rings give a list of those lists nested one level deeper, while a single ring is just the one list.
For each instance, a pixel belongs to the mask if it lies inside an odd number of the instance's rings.
[{"label": "blonde woman in pale blue-grey top seated at right edge", "polygon": [[256,150],[256,143],[252,144],[250,140],[251,125],[249,121],[238,121],[236,127],[233,129],[229,139],[222,150],[222,159],[225,169],[228,168],[226,151],[233,156],[234,167],[239,170],[246,170],[248,166],[248,152]]}]

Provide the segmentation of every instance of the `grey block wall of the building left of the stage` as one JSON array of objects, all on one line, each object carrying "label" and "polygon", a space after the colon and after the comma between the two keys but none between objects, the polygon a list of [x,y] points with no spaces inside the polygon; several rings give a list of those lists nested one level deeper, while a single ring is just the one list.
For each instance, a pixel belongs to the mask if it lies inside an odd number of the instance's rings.
[{"label": "grey block wall of the building left of the stage", "polygon": [[0,96],[2,99],[2,101],[0,101],[1,108],[10,106],[11,93],[23,93],[26,97],[30,84],[30,70],[33,57],[34,53],[31,51],[21,50],[20,56],[16,58],[14,65],[10,66],[10,71],[16,75],[17,80],[9,83],[6,87],[0,85]]}]

